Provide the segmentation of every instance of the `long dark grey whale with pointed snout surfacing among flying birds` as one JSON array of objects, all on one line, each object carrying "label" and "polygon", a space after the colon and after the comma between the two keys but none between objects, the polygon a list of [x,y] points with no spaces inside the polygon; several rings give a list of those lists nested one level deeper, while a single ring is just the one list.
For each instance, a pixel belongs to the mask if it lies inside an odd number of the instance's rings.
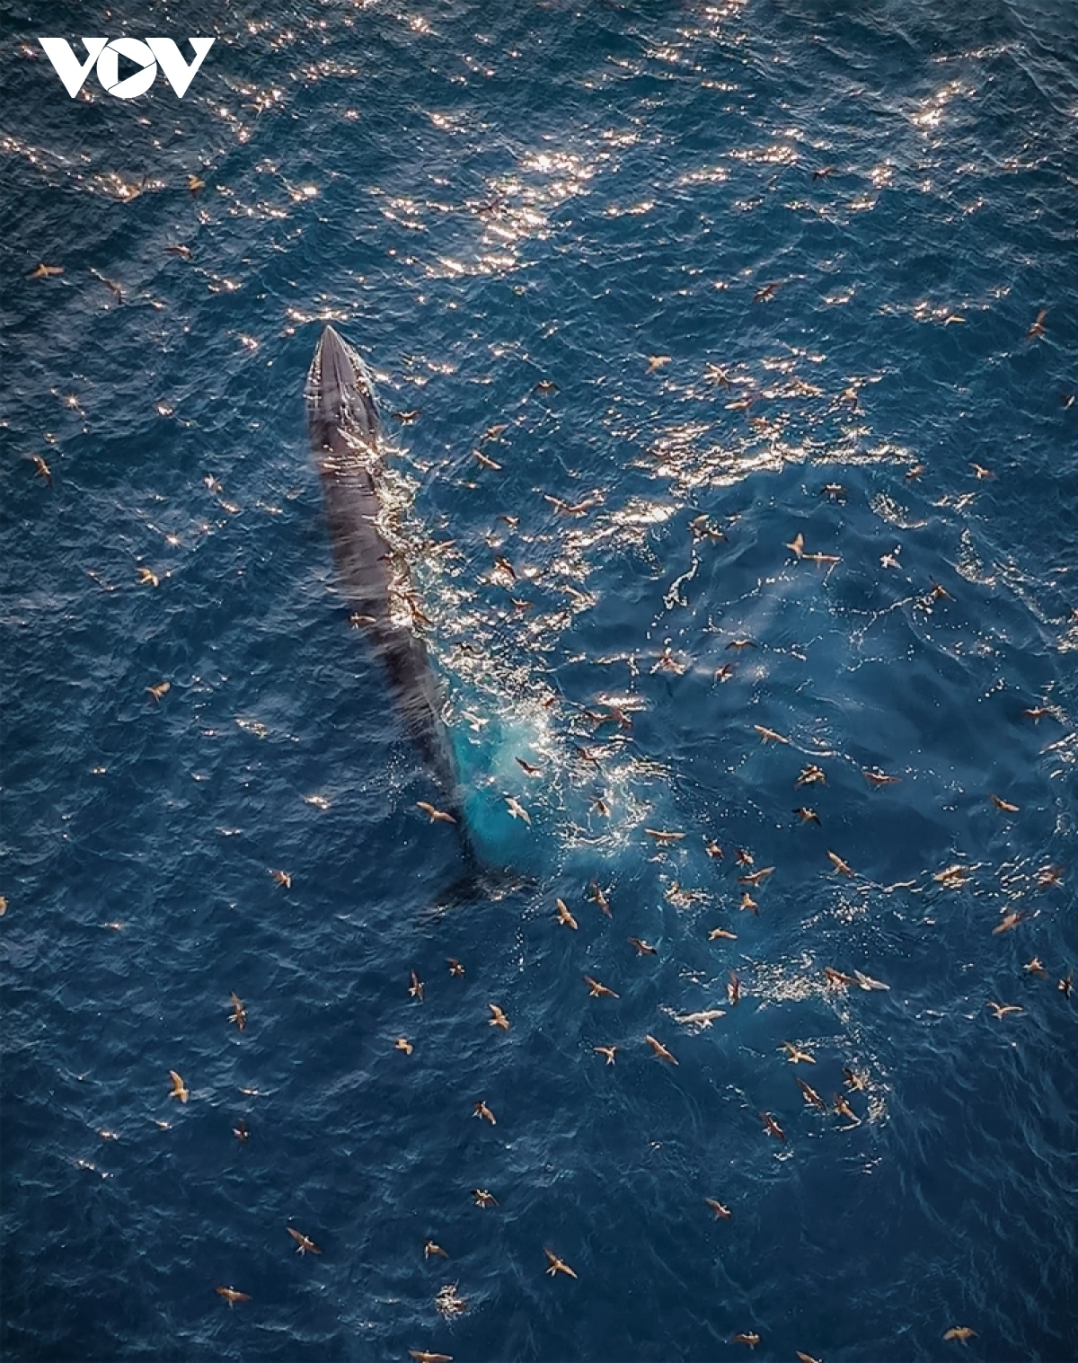
[{"label": "long dark grey whale with pointed snout surfacing among flying birds", "polygon": [[407,566],[386,527],[384,450],[373,380],[357,352],[330,326],[307,375],[307,420],[341,592],[470,853],[457,762],[442,721],[444,696],[416,630]]}]

